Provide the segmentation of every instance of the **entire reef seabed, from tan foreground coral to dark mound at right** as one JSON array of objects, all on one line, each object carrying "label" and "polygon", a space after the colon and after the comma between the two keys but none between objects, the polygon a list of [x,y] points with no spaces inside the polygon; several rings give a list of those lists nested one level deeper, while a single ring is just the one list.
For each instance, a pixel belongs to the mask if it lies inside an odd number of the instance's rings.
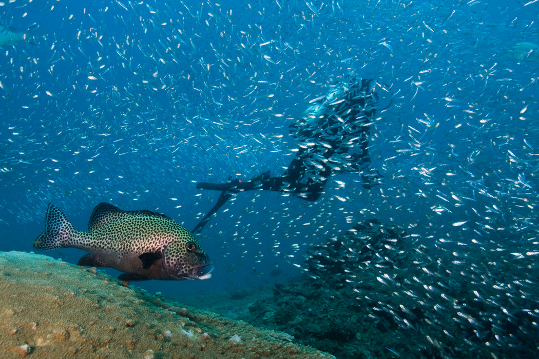
[{"label": "entire reef seabed, from tan foreground coral to dark mound at right", "polygon": [[537,245],[490,240],[434,251],[368,220],[309,248],[297,277],[272,288],[197,293],[184,304],[95,268],[0,252],[0,353],[536,358]]}]

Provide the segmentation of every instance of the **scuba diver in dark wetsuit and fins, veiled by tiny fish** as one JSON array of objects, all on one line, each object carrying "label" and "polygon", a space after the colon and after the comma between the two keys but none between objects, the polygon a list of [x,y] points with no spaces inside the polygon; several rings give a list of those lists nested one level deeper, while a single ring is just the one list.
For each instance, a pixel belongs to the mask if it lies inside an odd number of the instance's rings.
[{"label": "scuba diver in dark wetsuit and fins, veiled by tiny fish", "polygon": [[231,177],[222,184],[199,182],[197,188],[221,191],[221,194],[193,233],[199,233],[210,217],[238,192],[276,191],[316,201],[331,171],[360,174],[363,188],[378,185],[383,176],[371,167],[368,153],[370,128],[379,100],[377,86],[382,87],[372,79],[353,78],[311,101],[313,104],[305,115],[289,126],[300,146],[282,175],[273,176],[267,171],[248,181]]}]

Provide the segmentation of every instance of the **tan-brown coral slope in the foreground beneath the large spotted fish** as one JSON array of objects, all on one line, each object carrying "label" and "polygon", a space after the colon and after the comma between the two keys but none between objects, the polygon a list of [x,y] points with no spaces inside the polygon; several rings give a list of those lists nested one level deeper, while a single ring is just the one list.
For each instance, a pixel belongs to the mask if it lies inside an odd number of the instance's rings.
[{"label": "tan-brown coral slope in the foreground beneath the large spotted fish", "polygon": [[0,252],[3,358],[331,358],[291,337],[164,301],[95,268]]}]

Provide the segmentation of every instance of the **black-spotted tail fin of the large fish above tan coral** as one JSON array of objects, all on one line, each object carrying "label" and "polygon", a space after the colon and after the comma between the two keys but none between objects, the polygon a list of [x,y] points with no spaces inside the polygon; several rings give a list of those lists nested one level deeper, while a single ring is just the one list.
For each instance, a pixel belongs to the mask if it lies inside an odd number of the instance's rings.
[{"label": "black-spotted tail fin of the large fish above tan coral", "polygon": [[66,215],[52,203],[49,203],[45,231],[33,242],[33,246],[39,250],[68,247],[75,232],[75,228]]}]

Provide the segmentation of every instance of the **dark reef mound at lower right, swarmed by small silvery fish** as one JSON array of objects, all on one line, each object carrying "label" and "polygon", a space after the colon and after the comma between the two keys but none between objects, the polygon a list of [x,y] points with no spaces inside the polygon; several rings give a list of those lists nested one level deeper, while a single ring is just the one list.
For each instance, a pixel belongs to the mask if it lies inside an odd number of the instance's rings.
[{"label": "dark reef mound at lower right, swarmed by small silvery fish", "polygon": [[338,358],[536,356],[537,243],[448,243],[434,255],[414,238],[358,223],[309,249],[305,274],[244,320]]}]

